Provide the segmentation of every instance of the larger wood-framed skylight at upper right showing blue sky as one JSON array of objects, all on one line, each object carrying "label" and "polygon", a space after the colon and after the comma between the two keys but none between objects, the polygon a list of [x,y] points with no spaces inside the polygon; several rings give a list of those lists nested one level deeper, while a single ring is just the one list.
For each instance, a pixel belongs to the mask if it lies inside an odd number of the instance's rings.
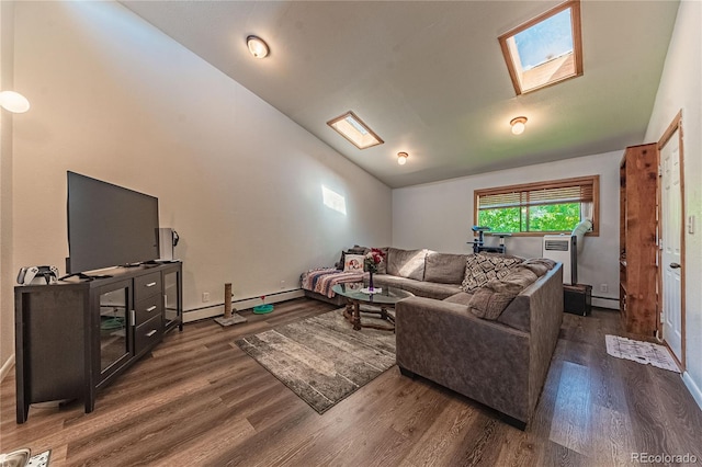
[{"label": "larger wood-framed skylight at upper right showing blue sky", "polygon": [[582,75],[579,0],[566,1],[498,39],[517,95]]}]

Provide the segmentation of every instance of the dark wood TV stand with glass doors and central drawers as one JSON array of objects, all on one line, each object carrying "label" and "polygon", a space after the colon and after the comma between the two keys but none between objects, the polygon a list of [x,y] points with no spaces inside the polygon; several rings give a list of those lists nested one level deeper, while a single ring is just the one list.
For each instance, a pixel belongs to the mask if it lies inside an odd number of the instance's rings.
[{"label": "dark wood TV stand with glass doors and central drawers", "polygon": [[31,403],[81,399],[182,330],[182,264],[116,269],[107,278],[14,288],[16,421]]}]

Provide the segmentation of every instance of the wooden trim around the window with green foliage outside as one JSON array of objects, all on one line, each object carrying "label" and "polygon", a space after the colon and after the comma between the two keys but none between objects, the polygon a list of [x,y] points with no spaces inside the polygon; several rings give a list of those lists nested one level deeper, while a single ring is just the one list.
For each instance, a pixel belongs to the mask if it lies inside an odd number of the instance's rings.
[{"label": "wooden trim around the window with green foliage outside", "polygon": [[[566,186],[576,186],[582,184],[592,185],[592,230],[585,234],[588,237],[600,236],[600,175],[587,175],[576,176],[571,179],[550,180],[533,183],[522,183],[518,185],[496,186],[491,189],[480,189],[473,191],[473,225],[478,224],[479,205],[478,200],[480,196],[492,194],[507,194],[513,192],[524,192],[534,190],[550,190]],[[530,232],[511,232],[512,237],[543,237],[545,235],[563,234],[565,230],[555,231],[530,231]]]}]

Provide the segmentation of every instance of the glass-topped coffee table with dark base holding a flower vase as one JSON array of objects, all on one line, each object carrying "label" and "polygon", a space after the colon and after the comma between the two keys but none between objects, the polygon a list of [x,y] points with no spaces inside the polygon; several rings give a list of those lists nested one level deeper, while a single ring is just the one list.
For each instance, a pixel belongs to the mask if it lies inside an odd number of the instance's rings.
[{"label": "glass-topped coffee table with dark base holding a flower vase", "polygon": [[[395,308],[395,305],[403,298],[414,296],[407,291],[403,291],[397,287],[376,287],[375,293],[369,294],[361,292],[362,288],[367,287],[367,284],[363,283],[348,283],[337,284],[331,287],[335,294],[346,297],[349,303],[343,310],[343,316],[353,324],[355,331],[361,328],[382,329],[384,331],[395,331],[395,317],[387,312],[388,308]],[[380,291],[380,292],[377,292]],[[373,305],[380,307],[380,310],[364,309],[361,310],[361,305]],[[380,318],[388,321],[387,326],[374,324],[370,322],[361,321],[361,312],[380,315]]]}]

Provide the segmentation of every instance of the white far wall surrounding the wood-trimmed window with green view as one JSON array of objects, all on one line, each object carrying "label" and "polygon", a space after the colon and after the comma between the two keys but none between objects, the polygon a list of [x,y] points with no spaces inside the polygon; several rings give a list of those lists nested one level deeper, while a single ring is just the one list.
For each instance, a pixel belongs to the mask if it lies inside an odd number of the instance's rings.
[{"label": "white far wall surrounding the wood-trimmed window with green view", "polygon": [[[393,191],[393,244],[446,253],[472,252],[473,191],[571,176],[600,175],[600,235],[586,237],[578,257],[578,282],[593,286],[593,299],[619,307],[619,164],[623,150],[559,162],[500,170]],[[497,243],[496,238],[486,240]],[[541,257],[541,237],[508,238],[509,253]],[[602,292],[604,284],[608,292]],[[616,300],[614,300],[616,299]]]}]

